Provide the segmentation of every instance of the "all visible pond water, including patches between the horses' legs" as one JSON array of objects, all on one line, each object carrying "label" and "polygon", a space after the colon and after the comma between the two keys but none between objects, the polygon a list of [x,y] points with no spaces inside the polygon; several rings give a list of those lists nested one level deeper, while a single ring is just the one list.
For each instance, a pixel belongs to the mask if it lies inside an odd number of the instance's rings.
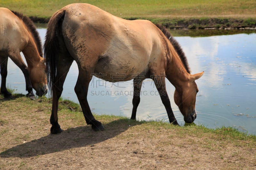
[{"label": "all visible pond water, including patches between the horses' legs", "polygon": [[[38,31],[44,42],[46,29]],[[256,134],[256,33],[178,36],[176,40],[188,57],[192,74],[204,71],[203,77],[196,80],[199,92],[195,123],[208,128],[232,126]],[[77,66],[73,63],[63,87],[62,98],[78,102],[74,92],[77,75]],[[7,84],[16,92],[26,94],[24,76],[11,60],[8,62]],[[175,89],[168,80],[166,86],[174,115],[178,123],[184,125],[183,116],[173,101]],[[169,122],[164,105],[150,79],[143,82],[141,93],[136,118]],[[96,114],[130,117],[132,94],[132,80],[110,83],[93,77],[88,102]]]}]

